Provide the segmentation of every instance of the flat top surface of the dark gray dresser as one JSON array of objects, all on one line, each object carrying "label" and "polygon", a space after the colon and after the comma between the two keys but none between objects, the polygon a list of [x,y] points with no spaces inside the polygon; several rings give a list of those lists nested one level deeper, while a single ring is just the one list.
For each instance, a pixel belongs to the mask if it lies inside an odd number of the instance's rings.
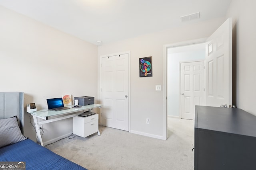
[{"label": "flat top surface of the dark gray dresser", "polygon": [[242,109],[196,106],[195,128],[256,137],[256,116]]}]

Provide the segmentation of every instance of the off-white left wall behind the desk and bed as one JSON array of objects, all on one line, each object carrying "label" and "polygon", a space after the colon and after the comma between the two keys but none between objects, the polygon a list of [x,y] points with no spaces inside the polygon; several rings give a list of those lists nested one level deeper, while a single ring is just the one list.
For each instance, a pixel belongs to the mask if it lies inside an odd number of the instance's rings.
[{"label": "off-white left wall behind the desk and bed", "polygon": [[[0,6],[0,80],[2,92],[22,91],[24,103],[47,108],[46,98],[95,96],[97,49],[76,37]],[[35,140],[30,117],[25,135]],[[43,141],[72,132],[72,119],[43,126]]]}]

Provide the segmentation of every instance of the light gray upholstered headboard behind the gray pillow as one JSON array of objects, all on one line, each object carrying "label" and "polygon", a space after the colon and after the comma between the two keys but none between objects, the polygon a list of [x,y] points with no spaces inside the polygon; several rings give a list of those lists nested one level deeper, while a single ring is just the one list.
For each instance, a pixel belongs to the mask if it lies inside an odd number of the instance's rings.
[{"label": "light gray upholstered headboard behind the gray pillow", "polygon": [[18,123],[24,134],[24,93],[0,92],[0,119],[18,117]]}]

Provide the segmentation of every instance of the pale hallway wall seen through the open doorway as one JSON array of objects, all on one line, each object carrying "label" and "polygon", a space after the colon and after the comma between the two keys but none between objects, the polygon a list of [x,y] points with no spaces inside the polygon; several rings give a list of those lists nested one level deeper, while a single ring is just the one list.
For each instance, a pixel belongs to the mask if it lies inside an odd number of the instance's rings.
[{"label": "pale hallway wall seen through the open doorway", "polygon": [[167,51],[167,113],[180,117],[180,62],[203,61],[205,43],[168,48]]}]

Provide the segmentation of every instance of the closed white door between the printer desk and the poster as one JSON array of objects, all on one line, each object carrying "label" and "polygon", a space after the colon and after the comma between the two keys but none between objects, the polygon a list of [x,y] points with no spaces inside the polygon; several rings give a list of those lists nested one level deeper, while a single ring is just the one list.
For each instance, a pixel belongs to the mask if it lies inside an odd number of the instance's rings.
[{"label": "closed white door between the printer desk and the poster", "polygon": [[102,58],[102,125],[129,130],[128,54]]}]

